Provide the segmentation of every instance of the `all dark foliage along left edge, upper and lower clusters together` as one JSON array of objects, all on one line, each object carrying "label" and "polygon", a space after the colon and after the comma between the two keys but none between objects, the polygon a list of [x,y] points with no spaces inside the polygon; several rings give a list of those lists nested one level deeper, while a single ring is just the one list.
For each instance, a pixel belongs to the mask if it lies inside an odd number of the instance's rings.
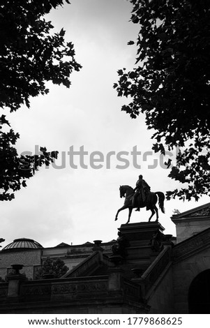
[{"label": "all dark foliage along left edge, upper and lower clusters together", "polygon": [[[63,0],[1,1],[0,107],[3,109],[8,107],[13,112],[23,104],[29,107],[30,97],[49,92],[47,81],[70,87],[70,73],[82,67],[75,61],[73,44],[64,40],[65,31],[52,33],[51,22],[43,17],[62,4]],[[5,126],[10,124],[1,115],[0,128]],[[41,165],[50,165],[57,152],[47,153],[43,147],[40,156],[18,156],[14,145],[19,134],[13,129],[0,132],[0,200],[11,200],[12,191],[25,187],[25,179],[32,177]],[[27,167],[22,163],[28,163]]]}]

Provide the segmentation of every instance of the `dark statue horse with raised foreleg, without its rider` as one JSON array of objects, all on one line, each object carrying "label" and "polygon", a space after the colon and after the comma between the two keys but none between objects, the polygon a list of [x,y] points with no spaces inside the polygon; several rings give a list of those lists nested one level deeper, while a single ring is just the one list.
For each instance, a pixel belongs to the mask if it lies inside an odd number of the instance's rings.
[{"label": "dark statue horse with raised foreleg, without its rider", "polygon": [[[123,204],[123,207],[121,207],[121,209],[117,211],[115,221],[117,221],[117,216],[120,211],[122,211],[123,209],[129,209],[128,221],[126,222],[126,224],[128,224],[130,222],[130,216],[133,209],[137,207],[137,206],[133,206],[133,195],[135,194],[135,192],[133,188],[131,188],[130,186],[120,186],[119,191],[120,191],[120,197],[126,197],[126,199]],[[158,208],[156,207],[156,202],[158,202],[161,211],[165,213],[164,200],[165,200],[164,193],[162,193],[161,191],[156,191],[156,193],[149,192],[144,202],[140,201],[140,207],[147,207],[147,210],[149,209],[151,210],[151,216],[149,217],[149,222],[151,221],[151,218],[155,213],[156,213],[156,221],[158,221]]]}]

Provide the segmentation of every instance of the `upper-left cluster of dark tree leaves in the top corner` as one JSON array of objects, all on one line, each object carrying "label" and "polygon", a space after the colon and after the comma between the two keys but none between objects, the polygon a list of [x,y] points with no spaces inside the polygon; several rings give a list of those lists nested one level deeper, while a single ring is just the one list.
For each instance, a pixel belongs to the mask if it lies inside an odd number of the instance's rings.
[{"label": "upper-left cluster of dark tree leaves in the top corner", "polygon": [[30,96],[49,91],[45,81],[69,87],[70,73],[80,69],[74,59],[73,44],[64,40],[65,31],[51,33],[51,22],[43,18],[62,3],[61,0],[1,1],[1,107],[8,106],[11,111],[23,103],[29,107]]}]

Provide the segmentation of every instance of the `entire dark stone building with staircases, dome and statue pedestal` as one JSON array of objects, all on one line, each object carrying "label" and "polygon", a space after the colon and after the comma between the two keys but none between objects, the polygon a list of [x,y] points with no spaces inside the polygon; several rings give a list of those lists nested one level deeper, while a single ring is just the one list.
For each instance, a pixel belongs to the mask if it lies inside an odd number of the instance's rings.
[{"label": "entire dark stone building with staircases, dome and statue pedestal", "polygon": [[[176,238],[143,222],[121,225],[108,243],[15,239],[0,252],[0,313],[210,313],[210,203],[172,221]],[[68,272],[36,279],[47,257]]]}]

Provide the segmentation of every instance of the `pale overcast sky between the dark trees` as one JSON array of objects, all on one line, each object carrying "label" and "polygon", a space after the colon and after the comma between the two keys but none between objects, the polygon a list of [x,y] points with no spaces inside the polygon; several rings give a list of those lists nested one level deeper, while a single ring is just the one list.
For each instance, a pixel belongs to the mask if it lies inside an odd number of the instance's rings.
[{"label": "pale overcast sky between the dark trees", "polygon": [[[128,218],[126,209],[114,221],[123,205],[120,185],[134,188],[138,175],[143,174],[152,191],[165,193],[178,186],[167,177],[169,170],[160,167],[157,154],[143,161],[145,152],[151,151],[152,133],[147,131],[144,115],[132,120],[121,112],[126,100],[117,97],[113,89],[117,70],[131,69],[135,64],[135,46],[127,45],[138,31],[137,25],[129,22],[131,9],[123,0],[72,0],[71,5],[50,13],[55,31],[63,27],[66,40],[74,43],[77,62],[83,68],[71,75],[70,89],[50,84],[50,94],[31,99],[30,110],[22,107],[9,115],[11,126],[20,133],[19,153],[34,153],[38,145],[48,151],[58,150],[59,159],[57,168],[42,167],[29,179],[27,188],[17,192],[15,200],[2,202],[0,237],[6,239],[2,246],[21,237],[35,239],[45,247],[62,241],[83,244],[117,239],[117,228]],[[87,168],[80,167],[79,156],[74,157],[77,169],[70,167],[68,151],[72,146],[75,151],[83,146],[88,152],[84,156]],[[125,162],[117,159],[117,153],[130,154],[135,146],[142,153],[137,157],[142,168],[135,168],[129,155],[121,156],[130,163],[123,169]],[[98,155],[100,163],[95,163],[100,164],[98,169],[90,165],[93,151],[102,154]],[[110,151],[115,154],[106,161]],[[151,169],[154,160],[158,165]],[[174,209],[182,212],[207,202],[209,197],[199,202],[166,201],[165,214],[159,211],[165,232],[175,235],[170,220]],[[149,216],[146,209],[133,211],[130,222],[147,221]]]}]

